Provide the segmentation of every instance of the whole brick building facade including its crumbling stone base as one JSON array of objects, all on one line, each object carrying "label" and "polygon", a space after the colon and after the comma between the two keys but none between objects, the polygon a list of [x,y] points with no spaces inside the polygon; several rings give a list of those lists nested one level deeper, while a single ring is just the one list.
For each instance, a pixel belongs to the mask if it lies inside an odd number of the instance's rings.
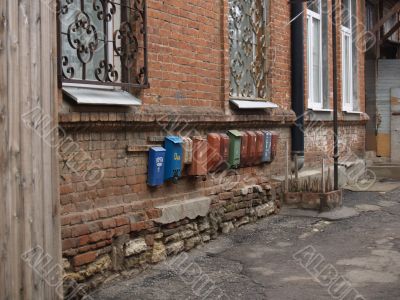
[{"label": "whole brick building facade including its crumbling stone base", "polygon": [[[279,107],[265,110],[239,110],[229,102],[232,2],[147,1],[150,88],[137,93],[140,106],[78,105],[60,91],[60,200],[67,278],[93,287],[114,272],[157,263],[279,211],[282,189],[273,178],[285,174],[285,147],[288,144],[290,151],[296,119],[291,110],[290,1],[267,1],[265,99]],[[361,33],[364,1],[355,2]],[[304,8],[306,13],[306,4]],[[327,20],[329,63],[323,70],[328,106],[306,117],[306,125],[313,120],[317,126],[305,130],[305,168],[319,168],[323,156],[333,155],[332,20]],[[362,113],[364,58],[358,51],[358,111],[340,109],[339,123],[342,155],[362,158],[367,117]],[[306,99],[307,93],[306,89]],[[147,185],[148,145],[161,145],[160,137],[171,134],[206,136],[231,129],[279,133],[274,161],[206,178],[184,171],[177,184]],[[165,205],[177,203],[179,209],[186,202],[208,207],[169,224],[157,221]]]}]

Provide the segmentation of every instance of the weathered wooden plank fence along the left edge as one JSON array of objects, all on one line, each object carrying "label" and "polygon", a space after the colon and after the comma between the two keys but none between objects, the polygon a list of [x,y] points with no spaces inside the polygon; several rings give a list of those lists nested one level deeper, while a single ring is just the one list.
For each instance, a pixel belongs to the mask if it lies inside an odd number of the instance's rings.
[{"label": "weathered wooden plank fence along the left edge", "polygon": [[[49,1],[0,1],[1,299],[62,297],[45,273],[62,265],[55,29]],[[42,270],[24,260],[33,249],[52,259]]]}]

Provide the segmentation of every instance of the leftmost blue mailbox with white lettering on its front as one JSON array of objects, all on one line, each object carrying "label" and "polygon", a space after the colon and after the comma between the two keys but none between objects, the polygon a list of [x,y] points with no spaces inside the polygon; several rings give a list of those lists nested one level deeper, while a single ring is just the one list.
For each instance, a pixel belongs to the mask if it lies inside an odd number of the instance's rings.
[{"label": "leftmost blue mailbox with white lettering on its front", "polygon": [[147,184],[159,186],[164,183],[165,149],[163,147],[152,147],[149,150],[149,164]]}]

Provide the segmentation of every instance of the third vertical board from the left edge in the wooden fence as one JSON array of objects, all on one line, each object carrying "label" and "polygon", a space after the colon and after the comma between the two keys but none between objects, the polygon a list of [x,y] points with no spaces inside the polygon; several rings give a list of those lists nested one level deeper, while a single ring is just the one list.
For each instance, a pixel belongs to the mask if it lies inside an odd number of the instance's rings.
[{"label": "third vertical board from the left edge in the wooden fence", "polygon": [[[30,35],[31,26],[34,26],[34,21],[31,18],[31,5],[30,0],[20,0],[18,5],[18,47],[19,51],[19,64],[16,66],[18,74],[15,78],[18,80],[15,82],[16,86],[19,86],[19,103],[20,110],[15,116],[14,122],[19,123],[20,131],[20,174],[21,184],[19,186],[21,199],[20,199],[20,236],[23,239],[19,241],[21,247],[19,254],[29,251],[35,247],[35,241],[32,240],[32,225],[35,223],[33,213],[36,208],[33,208],[35,197],[32,190],[32,171],[33,171],[33,160],[34,151],[32,149],[32,140],[35,139],[35,135],[32,134],[32,130],[29,125],[22,122],[23,116],[29,116],[30,108],[32,105],[32,87],[34,86],[35,78],[31,77],[31,49],[38,45],[33,44],[31,39],[34,36]],[[37,298],[40,295],[36,293],[33,285],[33,271],[32,268],[26,264],[21,264],[21,275],[22,275],[22,296],[24,299]]]}]

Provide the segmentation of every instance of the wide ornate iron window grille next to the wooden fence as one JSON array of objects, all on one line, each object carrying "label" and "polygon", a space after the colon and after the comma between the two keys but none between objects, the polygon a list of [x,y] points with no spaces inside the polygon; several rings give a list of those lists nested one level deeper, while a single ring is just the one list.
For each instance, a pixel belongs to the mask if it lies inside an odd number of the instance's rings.
[{"label": "wide ornate iron window grille next to the wooden fence", "polygon": [[147,88],[146,0],[59,0],[63,83]]}]

